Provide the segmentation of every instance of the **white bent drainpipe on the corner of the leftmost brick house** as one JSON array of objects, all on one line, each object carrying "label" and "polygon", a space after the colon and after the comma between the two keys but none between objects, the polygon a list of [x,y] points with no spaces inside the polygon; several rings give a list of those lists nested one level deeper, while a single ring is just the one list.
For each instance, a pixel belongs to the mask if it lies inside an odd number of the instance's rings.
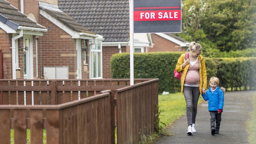
[{"label": "white bent drainpipe on the corner of the leftmost brick house", "polygon": [[12,79],[16,79],[16,68],[15,68],[15,60],[16,60],[16,54],[15,54],[15,40],[23,37],[23,30],[20,30],[20,34],[17,36],[14,36],[12,38]]}]

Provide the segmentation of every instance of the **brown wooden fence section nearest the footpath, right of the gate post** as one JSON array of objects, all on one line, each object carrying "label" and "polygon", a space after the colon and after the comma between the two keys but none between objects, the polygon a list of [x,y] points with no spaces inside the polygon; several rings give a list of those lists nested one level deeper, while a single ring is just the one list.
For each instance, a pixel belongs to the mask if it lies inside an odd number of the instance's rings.
[{"label": "brown wooden fence section nearest the footpath, right of the gate post", "polygon": [[158,79],[115,90],[118,143],[137,143],[157,128]]}]

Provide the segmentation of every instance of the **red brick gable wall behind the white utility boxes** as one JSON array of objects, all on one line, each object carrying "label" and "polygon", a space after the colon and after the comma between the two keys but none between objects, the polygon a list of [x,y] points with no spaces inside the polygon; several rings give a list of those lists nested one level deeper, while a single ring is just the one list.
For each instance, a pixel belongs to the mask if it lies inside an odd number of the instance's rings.
[{"label": "red brick gable wall behind the white utility boxes", "polygon": [[76,79],[76,39],[43,16],[40,16],[40,21],[48,31],[38,40],[39,76],[46,66],[68,66],[69,79]]}]

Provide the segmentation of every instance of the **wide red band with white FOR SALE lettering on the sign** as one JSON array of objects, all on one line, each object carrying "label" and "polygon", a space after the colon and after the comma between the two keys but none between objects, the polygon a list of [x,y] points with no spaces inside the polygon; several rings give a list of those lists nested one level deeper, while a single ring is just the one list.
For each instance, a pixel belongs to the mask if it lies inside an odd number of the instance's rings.
[{"label": "wide red band with white FOR SALE lettering on the sign", "polygon": [[181,10],[134,11],[134,21],[181,20]]}]

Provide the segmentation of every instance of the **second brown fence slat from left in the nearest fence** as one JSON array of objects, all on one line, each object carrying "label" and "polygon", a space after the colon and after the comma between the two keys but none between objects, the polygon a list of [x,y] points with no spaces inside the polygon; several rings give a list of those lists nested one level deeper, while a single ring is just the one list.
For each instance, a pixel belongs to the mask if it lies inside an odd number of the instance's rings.
[{"label": "second brown fence slat from left in the nearest fence", "polygon": [[14,109],[14,143],[24,144],[26,143],[26,110]]}]

